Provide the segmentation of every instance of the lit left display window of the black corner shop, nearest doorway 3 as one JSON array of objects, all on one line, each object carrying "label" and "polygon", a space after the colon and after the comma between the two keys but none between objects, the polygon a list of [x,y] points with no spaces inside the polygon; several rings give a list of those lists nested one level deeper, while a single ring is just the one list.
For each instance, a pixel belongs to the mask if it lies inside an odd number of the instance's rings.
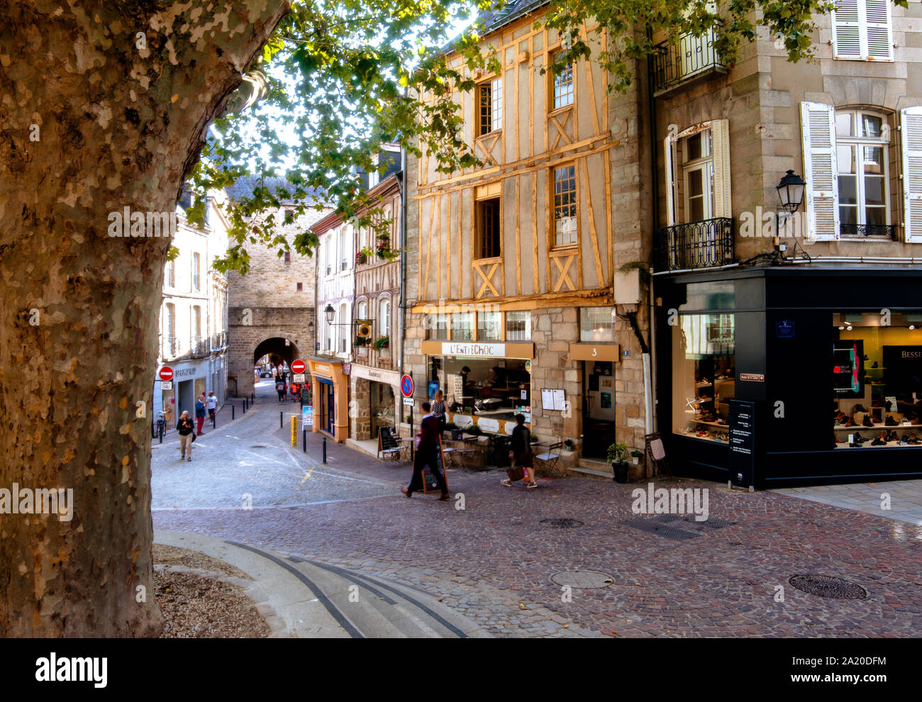
[{"label": "lit left display window of the black corner shop, nearest doorway 3", "polygon": [[735,317],[684,314],[672,327],[672,427],[682,436],[727,442],[736,396]]}]

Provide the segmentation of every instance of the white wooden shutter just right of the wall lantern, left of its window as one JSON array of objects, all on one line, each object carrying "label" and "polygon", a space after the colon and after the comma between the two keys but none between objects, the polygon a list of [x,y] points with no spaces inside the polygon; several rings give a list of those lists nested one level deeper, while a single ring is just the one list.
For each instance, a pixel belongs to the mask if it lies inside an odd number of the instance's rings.
[{"label": "white wooden shutter just right of the wall lantern, left of its window", "polygon": [[832,105],[800,103],[803,136],[807,236],[839,238],[839,193],[835,168],[835,119]]}]

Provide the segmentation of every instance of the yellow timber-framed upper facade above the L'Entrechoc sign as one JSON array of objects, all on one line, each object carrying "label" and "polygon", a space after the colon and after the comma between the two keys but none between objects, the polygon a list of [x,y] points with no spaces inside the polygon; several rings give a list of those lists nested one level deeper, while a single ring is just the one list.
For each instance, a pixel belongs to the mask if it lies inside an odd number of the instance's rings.
[{"label": "yellow timber-framed upper facade above the L'Entrechoc sign", "polygon": [[[451,99],[463,106],[463,136],[483,163],[445,175],[423,151],[418,173],[411,173],[419,212],[417,251],[408,252],[418,271],[417,294],[409,296],[414,312],[440,300],[503,310],[611,304],[612,149],[621,142],[609,131],[609,76],[596,62],[573,64],[572,104],[553,109],[554,78],[541,69],[560,41],[556,32],[534,28],[546,9],[484,38],[502,64],[498,74],[470,75],[455,54],[445,58],[478,84],[502,78],[502,124],[475,135],[477,97],[451,88]],[[607,37],[593,36],[593,29],[584,27],[583,36],[604,47]],[[557,246],[554,170],[567,166],[575,176],[577,241]],[[500,198],[498,257],[478,255],[483,188]]]}]

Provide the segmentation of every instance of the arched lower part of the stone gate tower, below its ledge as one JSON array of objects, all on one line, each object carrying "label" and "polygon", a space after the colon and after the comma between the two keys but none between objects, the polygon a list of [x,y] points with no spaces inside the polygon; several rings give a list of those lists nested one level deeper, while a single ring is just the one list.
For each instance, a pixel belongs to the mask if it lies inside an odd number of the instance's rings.
[{"label": "arched lower part of the stone gate tower, below its ledge", "polygon": [[313,354],[313,307],[231,307],[228,317],[228,388],[237,397],[254,392],[254,363],[266,354],[289,364]]}]

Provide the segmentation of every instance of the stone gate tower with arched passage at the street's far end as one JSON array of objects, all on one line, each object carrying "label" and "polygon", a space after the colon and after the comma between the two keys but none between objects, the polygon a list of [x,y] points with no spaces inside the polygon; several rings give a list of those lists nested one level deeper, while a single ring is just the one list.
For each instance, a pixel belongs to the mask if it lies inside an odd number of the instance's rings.
[{"label": "stone gate tower with arched passage at the street's far end", "polygon": [[[231,199],[252,193],[254,179],[241,179],[229,188]],[[275,179],[266,186],[293,190]],[[294,206],[283,202],[274,212],[278,233],[289,242],[290,252],[265,244],[248,244],[250,270],[247,275],[229,274],[229,392],[249,397],[254,387],[254,363],[266,354],[290,363],[313,354],[315,344],[314,275],[312,256],[294,251],[295,236],[310,228],[329,212],[309,210],[296,216]]]}]

